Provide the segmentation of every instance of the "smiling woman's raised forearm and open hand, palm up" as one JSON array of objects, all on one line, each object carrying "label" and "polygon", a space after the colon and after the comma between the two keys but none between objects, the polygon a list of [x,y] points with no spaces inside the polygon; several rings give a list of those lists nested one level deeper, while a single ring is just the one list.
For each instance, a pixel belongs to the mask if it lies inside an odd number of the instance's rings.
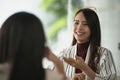
[{"label": "smiling woman's raised forearm and open hand, palm up", "polygon": [[81,69],[87,76],[89,76],[91,80],[94,80],[95,72],[84,62],[84,60],[81,57],[76,56],[76,60],[73,58],[66,58],[66,57],[64,57],[63,59],[71,66],[77,69]]}]

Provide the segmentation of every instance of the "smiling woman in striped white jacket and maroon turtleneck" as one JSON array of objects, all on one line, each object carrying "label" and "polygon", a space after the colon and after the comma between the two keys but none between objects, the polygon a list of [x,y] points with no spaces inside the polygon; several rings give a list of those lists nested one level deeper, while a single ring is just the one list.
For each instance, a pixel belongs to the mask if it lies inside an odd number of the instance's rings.
[{"label": "smiling woman in striped white jacket and maroon turtleneck", "polygon": [[72,46],[63,50],[60,58],[72,80],[116,80],[112,54],[101,47],[99,18],[89,8],[75,14]]}]

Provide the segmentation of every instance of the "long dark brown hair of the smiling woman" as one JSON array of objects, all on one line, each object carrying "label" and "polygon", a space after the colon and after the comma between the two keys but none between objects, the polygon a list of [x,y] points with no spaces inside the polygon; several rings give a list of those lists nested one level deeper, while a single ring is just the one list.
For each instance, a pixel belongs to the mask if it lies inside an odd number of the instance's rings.
[{"label": "long dark brown hair of the smiling woman", "polygon": [[[100,30],[100,22],[99,18],[96,14],[96,12],[92,9],[89,8],[83,8],[80,9],[76,12],[75,16],[83,12],[88,26],[91,31],[91,36],[90,36],[90,59],[89,59],[89,66],[96,72],[97,70],[97,63],[99,62],[100,54],[98,51],[98,47],[101,46],[101,30]],[[73,42],[72,45],[76,44],[76,39],[73,36]],[[96,62],[97,61],[97,62]]]}]

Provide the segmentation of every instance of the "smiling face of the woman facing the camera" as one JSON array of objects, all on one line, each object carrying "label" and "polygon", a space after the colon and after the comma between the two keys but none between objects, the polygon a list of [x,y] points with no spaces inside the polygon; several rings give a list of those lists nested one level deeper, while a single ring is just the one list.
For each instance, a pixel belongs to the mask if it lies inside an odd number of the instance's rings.
[{"label": "smiling face of the woman facing the camera", "polygon": [[88,27],[83,12],[80,12],[75,16],[73,35],[77,40],[77,43],[82,44],[89,41],[91,31]]}]

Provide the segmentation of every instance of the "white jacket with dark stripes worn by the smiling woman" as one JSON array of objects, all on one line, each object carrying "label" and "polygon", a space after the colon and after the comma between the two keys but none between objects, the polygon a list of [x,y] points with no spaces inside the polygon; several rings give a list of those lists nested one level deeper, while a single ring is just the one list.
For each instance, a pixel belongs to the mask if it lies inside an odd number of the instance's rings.
[{"label": "white jacket with dark stripes worn by the smiling woman", "polygon": [[[94,80],[117,80],[117,72],[116,67],[113,61],[112,54],[110,50],[99,47],[100,49],[100,62],[97,64],[97,72]],[[70,48],[64,49],[62,52],[60,52],[60,59],[62,60],[62,57],[71,57],[75,59],[76,56],[76,50],[77,45],[71,46]],[[90,46],[88,47],[85,63],[88,64],[89,57],[90,57]],[[75,68],[67,64],[63,61],[64,69],[66,72],[66,76],[72,79],[75,73]],[[55,66],[53,66],[51,69],[53,69]],[[89,80],[88,76],[86,76],[85,80]]]}]

